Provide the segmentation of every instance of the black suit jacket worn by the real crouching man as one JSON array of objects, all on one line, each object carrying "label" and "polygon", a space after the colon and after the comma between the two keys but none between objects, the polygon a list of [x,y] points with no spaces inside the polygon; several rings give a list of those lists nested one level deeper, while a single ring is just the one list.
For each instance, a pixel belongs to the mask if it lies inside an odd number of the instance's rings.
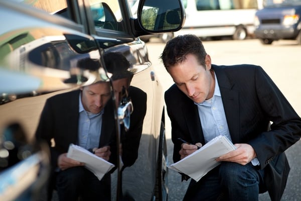
[{"label": "black suit jacket worn by the real crouching man", "polygon": [[[212,69],[233,143],[247,143],[254,148],[260,168],[266,170],[264,179],[270,197],[280,200],[289,172],[284,151],[300,139],[300,118],[260,66],[212,65]],[[166,91],[165,100],[176,162],[181,149],[177,138],[204,144],[204,136],[197,106],[175,84]]]}]

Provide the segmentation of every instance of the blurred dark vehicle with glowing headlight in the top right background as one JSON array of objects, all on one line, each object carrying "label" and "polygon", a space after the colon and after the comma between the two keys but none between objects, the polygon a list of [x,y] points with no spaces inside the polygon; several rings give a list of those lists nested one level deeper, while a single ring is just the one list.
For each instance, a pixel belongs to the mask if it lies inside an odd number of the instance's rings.
[{"label": "blurred dark vehicle with glowing headlight in the top right background", "polygon": [[296,40],[301,44],[301,0],[267,1],[256,12],[255,36],[262,44]]}]

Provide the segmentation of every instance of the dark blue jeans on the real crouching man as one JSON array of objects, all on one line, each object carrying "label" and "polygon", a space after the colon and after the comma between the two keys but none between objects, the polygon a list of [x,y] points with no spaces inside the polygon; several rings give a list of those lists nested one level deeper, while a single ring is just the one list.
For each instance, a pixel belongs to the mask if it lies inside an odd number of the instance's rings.
[{"label": "dark blue jeans on the real crouching man", "polygon": [[266,191],[263,176],[264,170],[251,163],[222,162],[198,182],[191,180],[183,200],[256,201],[258,194]]}]

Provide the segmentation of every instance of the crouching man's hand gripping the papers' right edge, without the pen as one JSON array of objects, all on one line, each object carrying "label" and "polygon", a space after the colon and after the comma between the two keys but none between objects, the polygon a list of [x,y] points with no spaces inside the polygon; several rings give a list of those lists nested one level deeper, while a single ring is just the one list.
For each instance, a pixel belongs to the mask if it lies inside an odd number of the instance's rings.
[{"label": "crouching man's hand gripping the papers' right edge, without the pen", "polygon": [[216,161],[229,161],[246,165],[256,157],[253,147],[249,144],[235,144],[237,149],[230,151],[216,159]]}]

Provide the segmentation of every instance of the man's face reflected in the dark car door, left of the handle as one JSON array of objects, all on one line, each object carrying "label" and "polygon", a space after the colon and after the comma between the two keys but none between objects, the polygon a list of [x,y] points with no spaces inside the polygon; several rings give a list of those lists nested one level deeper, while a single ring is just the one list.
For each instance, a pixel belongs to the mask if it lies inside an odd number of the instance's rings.
[{"label": "man's face reflected in the dark car door, left of the handle", "polygon": [[111,98],[110,83],[99,82],[81,88],[81,101],[87,112],[97,114]]}]

